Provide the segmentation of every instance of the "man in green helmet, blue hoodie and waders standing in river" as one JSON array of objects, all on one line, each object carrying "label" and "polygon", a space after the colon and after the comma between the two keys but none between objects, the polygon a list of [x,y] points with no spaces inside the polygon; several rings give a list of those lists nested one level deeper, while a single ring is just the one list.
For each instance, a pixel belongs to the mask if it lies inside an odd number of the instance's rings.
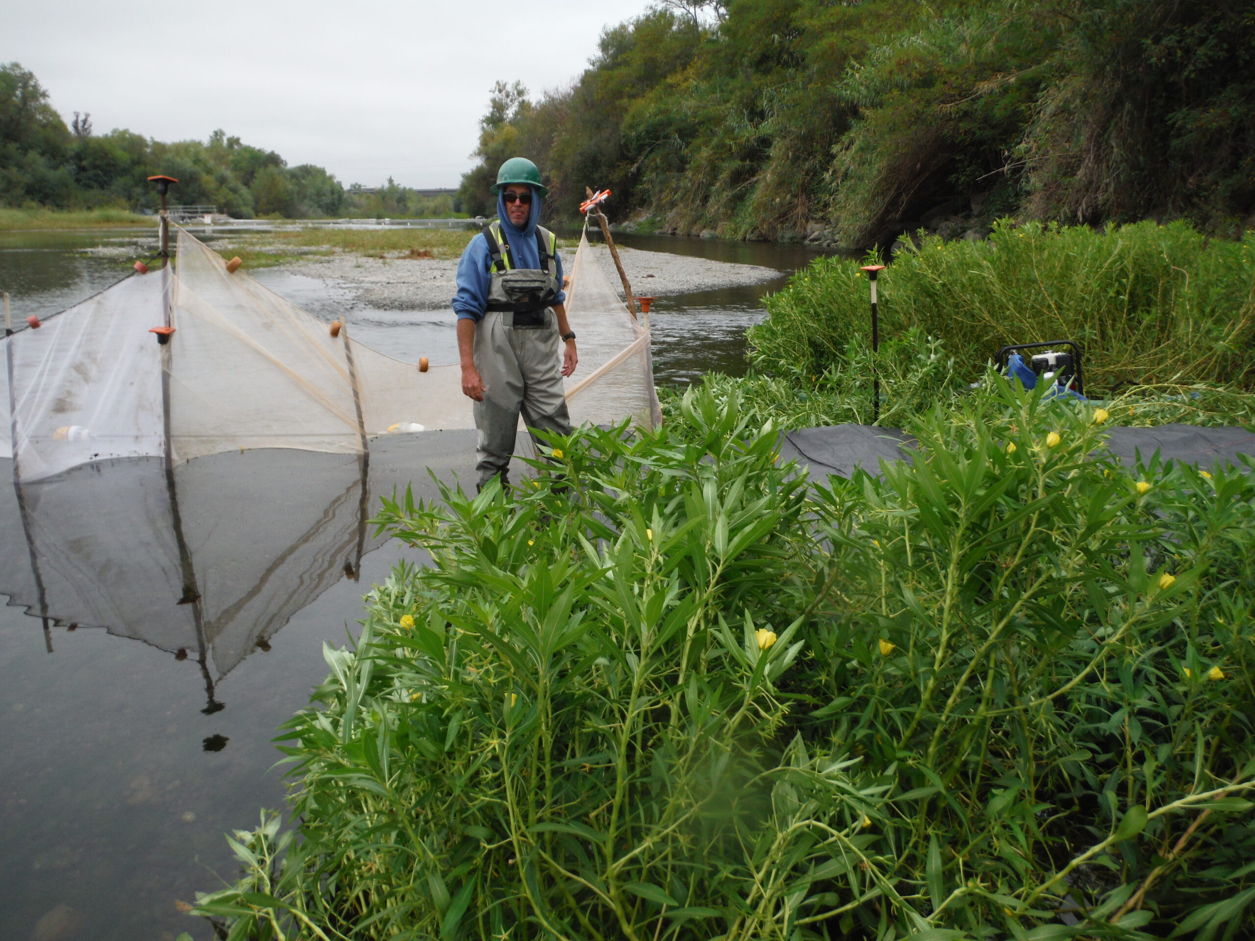
[{"label": "man in green helmet, blue hoodie and waders standing in river", "polygon": [[510,484],[520,410],[528,428],[571,433],[562,376],[579,361],[566,321],[557,238],[537,225],[548,192],[540,171],[523,157],[508,159],[492,192],[497,218],[462,252],[453,296],[462,391],[474,399],[479,432],[479,489],[493,477],[501,477],[502,487]]}]

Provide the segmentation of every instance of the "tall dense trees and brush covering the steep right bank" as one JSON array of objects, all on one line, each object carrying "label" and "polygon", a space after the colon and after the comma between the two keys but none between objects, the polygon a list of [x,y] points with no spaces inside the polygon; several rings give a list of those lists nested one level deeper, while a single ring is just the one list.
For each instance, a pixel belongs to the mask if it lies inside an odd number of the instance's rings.
[{"label": "tall dense trees and brush covering the steep right bank", "polygon": [[1255,212],[1252,30],[1236,0],[674,0],[607,29],[570,87],[499,83],[462,196],[483,211],[523,153],[565,213],[610,187],[619,221],[693,235],[1232,235]]}]

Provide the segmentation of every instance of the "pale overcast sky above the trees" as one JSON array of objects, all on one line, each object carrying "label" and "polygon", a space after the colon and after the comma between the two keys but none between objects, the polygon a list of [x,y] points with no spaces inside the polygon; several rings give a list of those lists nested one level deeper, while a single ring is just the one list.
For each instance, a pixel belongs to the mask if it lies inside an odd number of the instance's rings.
[{"label": "pale overcast sky above the trees", "polygon": [[649,0],[0,0],[0,63],[67,123],[158,141],[215,128],[345,184],[453,187],[488,89],[566,85]]}]

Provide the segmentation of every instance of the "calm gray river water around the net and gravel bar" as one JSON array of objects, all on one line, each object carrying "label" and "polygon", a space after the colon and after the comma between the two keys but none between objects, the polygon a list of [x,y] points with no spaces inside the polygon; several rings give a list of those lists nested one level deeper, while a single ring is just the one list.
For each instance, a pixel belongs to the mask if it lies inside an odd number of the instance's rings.
[{"label": "calm gray river water around the net and gravel bar", "polygon": [[[784,272],[814,257],[772,243],[621,241]],[[0,233],[14,321],[103,290],[141,243]],[[282,272],[261,275],[297,304],[318,301]],[[660,299],[658,381],[742,373],[744,330],[782,284]],[[387,311],[380,324],[368,341],[387,353],[388,324],[407,320]],[[152,498],[164,477],[142,460],[0,488],[0,592],[16,598],[0,606],[0,938],[212,937],[179,903],[233,877],[225,833],[281,807],[275,729],[326,675],[323,645],[356,632],[364,592],[405,557],[365,527],[368,508],[410,481],[415,496],[435,496],[425,465],[447,481],[471,472],[473,433],[439,434],[434,449],[415,450],[412,435],[373,448],[369,468],[306,452],[201,458],[178,470],[177,524]],[[201,588],[182,607],[176,531]],[[50,619],[18,606],[38,611],[36,597]]]}]

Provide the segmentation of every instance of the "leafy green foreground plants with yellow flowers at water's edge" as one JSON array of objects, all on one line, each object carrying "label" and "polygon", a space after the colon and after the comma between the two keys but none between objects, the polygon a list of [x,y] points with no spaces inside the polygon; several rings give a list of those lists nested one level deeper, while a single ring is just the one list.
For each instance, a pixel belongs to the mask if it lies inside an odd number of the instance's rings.
[{"label": "leafy green foreground plants with yellow flowers at water's edge", "polygon": [[[1255,484],[1132,472],[1000,380],[806,487],[739,396],[584,429],[430,553],[285,728],[231,938],[1237,937]],[[1097,450],[1096,450],[1097,449]]]}]

